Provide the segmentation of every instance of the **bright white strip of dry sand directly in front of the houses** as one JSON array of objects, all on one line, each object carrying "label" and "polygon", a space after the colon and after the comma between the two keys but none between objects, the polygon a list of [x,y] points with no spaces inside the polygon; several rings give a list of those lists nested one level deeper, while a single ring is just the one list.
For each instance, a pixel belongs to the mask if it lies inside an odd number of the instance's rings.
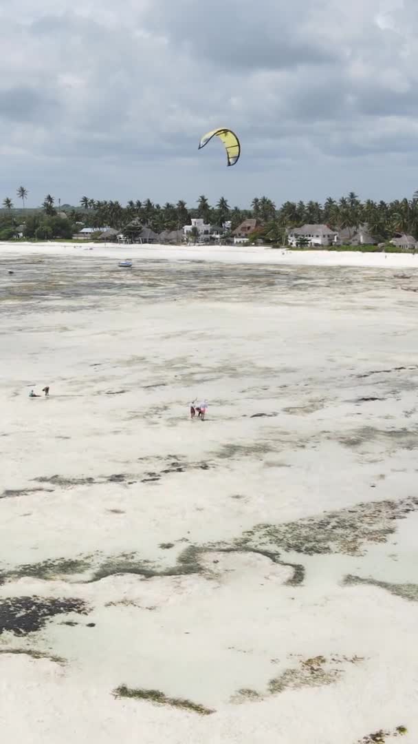
[{"label": "bright white strip of dry sand directly in front of the houses", "polygon": [[[91,249],[91,250],[90,250]],[[163,246],[160,244],[140,246],[108,243],[1,243],[0,257],[17,255],[94,255],[94,257],[118,260],[126,256],[146,260],[190,260],[208,263],[255,263],[277,266],[352,266],[370,269],[418,269],[417,254],[362,253],[361,251],[290,251],[287,248],[264,246]]]}]

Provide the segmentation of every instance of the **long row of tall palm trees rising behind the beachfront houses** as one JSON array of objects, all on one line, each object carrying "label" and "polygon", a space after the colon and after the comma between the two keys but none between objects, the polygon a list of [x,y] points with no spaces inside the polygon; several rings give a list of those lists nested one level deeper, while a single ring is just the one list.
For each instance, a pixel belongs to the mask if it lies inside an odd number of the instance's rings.
[{"label": "long row of tall palm trees rising behind the beachfront houses", "polygon": [[[22,199],[25,208],[27,189],[19,186],[16,196]],[[10,197],[3,201],[4,208],[11,214],[13,202]],[[45,217],[56,214],[55,199],[48,194],[42,203]],[[195,207],[189,207],[180,199],[176,204],[166,202],[164,205],[154,203],[151,199],[130,199],[125,206],[119,201],[96,200],[82,196],[79,208],[67,211],[74,224],[82,222],[87,227],[100,228],[109,226],[121,229],[129,222],[136,221],[150,227],[157,234],[163,231],[174,231],[190,224],[192,217],[200,217],[204,222],[222,227],[230,222],[234,230],[244,219],[257,219],[263,225],[262,231],[270,240],[281,240],[287,228],[304,224],[327,224],[332,228],[356,228],[368,224],[370,233],[382,240],[393,237],[393,234],[408,233],[418,237],[418,191],[411,199],[395,199],[393,202],[373,199],[362,201],[353,191],[340,199],[328,197],[324,204],[319,202],[284,202],[276,207],[267,196],[252,199],[249,209],[231,207],[224,196],[215,205],[203,194],[197,199]]]}]

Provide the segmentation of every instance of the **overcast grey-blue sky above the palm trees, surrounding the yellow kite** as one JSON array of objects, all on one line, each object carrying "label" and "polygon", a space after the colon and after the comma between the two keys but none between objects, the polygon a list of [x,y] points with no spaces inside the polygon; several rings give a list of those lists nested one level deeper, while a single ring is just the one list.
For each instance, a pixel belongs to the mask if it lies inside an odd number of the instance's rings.
[{"label": "overcast grey-blue sky above the palm trees, surrounding the yellow kite", "polygon": [[1,199],[418,189],[417,0],[2,0],[0,69]]}]

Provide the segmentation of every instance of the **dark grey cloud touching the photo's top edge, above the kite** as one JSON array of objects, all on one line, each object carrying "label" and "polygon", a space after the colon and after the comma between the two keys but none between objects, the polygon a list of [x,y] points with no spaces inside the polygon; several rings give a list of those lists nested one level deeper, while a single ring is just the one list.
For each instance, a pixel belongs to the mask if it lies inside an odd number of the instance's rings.
[{"label": "dark grey cloud touching the photo's top edge, above the kite", "polygon": [[335,59],[335,49],[304,33],[303,7],[300,0],[291,10],[276,0],[154,0],[146,21],[189,49],[197,62],[227,69],[279,70]]}]

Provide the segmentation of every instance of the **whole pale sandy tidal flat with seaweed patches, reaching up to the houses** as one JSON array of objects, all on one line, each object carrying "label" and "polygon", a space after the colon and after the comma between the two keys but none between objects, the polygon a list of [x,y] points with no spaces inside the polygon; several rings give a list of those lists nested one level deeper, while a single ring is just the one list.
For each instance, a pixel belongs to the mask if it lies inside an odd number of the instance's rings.
[{"label": "whole pale sandy tidal flat with seaweed patches, reaching up to the houses", "polygon": [[414,289],[408,254],[0,244],[4,740],[417,742]]}]

